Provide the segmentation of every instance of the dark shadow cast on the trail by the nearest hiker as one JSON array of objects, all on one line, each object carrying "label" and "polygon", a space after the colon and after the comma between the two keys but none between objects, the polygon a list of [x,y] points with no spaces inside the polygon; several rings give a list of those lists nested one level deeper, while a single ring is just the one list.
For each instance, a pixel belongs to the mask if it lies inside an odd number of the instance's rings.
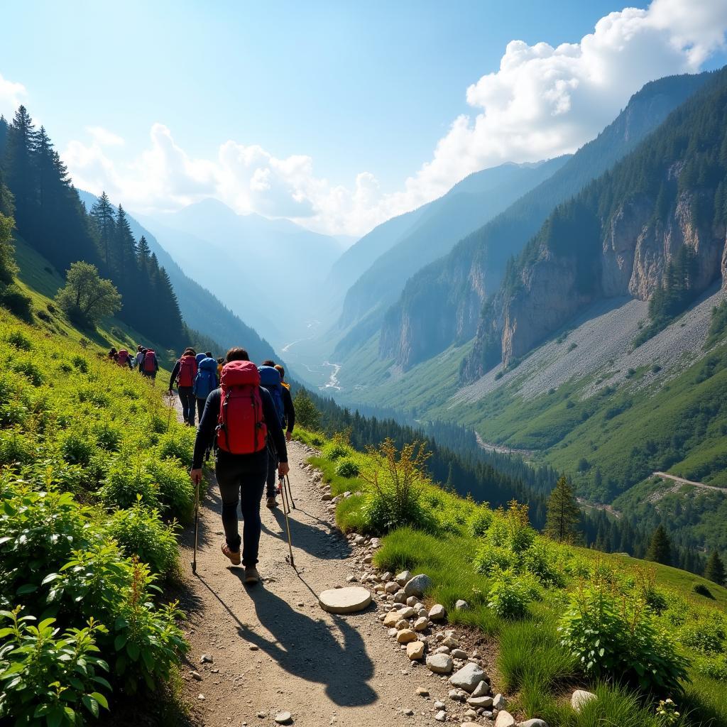
[{"label": "dark shadow cast on the trail by the nearest hiker", "polygon": [[[233,571],[238,578],[243,571]],[[334,616],[335,627],[291,608],[262,584],[248,589],[257,619],[273,636],[268,640],[240,624],[238,633],[275,659],[289,674],[326,685],[326,695],[340,707],[372,704],[377,693],[367,683],[374,665],[366,654],[361,634],[345,619]],[[238,622],[239,623],[239,622]],[[334,630],[340,631],[339,643]]]}]

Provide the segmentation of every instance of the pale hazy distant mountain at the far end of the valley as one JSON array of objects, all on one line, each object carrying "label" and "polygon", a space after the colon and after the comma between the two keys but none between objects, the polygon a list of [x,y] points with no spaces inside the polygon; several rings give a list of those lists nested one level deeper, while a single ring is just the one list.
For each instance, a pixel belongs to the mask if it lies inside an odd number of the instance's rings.
[{"label": "pale hazy distant mountain at the far end of the valley", "polygon": [[138,217],[185,270],[276,345],[305,328],[341,251],[335,238],[288,220],[236,214],[212,198]]}]

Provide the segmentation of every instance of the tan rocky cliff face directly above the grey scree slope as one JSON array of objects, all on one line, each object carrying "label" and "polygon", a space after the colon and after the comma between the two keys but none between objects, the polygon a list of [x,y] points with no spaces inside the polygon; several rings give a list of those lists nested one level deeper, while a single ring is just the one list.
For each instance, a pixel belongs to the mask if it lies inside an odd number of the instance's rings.
[{"label": "tan rocky cliff face directly above the grey scree slope", "polygon": [[696,294],[719,278],[724,283],[726,230],[724,225],[697,222],[694,209],[700,194],[709,196],[710,191],[680,194],[665,223],[654,220],[653,198],[642,195],[620,205],[603,224],[590,285],[583,284],[577,255],[558,254],[545,241],[533,245],[530,262],[518,269],[483,314],[463,379],[472,381],[499,361],[513,364],[595,300],[629,295],[648,300],[682,246],[694,252],[689,286]]}]

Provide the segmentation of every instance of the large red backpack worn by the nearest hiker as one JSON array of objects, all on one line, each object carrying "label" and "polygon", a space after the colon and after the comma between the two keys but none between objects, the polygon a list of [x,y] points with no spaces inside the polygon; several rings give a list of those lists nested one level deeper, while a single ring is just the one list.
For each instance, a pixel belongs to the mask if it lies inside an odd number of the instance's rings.
[{"label": "large red backpack worn by the nearest hiker", "polygon": [[257,366],[252,361],[230,361],[222,366],[220,387],[217,446],[230,454],[253,454],[265,449],[268,427]]}]

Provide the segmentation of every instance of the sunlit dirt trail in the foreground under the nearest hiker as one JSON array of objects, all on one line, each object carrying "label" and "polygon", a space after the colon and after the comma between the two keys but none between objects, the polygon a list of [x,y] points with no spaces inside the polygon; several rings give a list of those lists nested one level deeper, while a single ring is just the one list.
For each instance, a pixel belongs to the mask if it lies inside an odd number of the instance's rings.
[{"label": "sunlit dirt trail in the foreground under the nearest hiker", "polygon": [[[347,560],[350,545],[333,528],[320,490],[300,469],[306,456],[300,444],[291,443],[297,571],[285,560],[283,513],[262,507],[262,583],[243,585],[243,570],[229,566],[220,553],[220,496],[214,482],[201,505],[197,577],[189,567],[192,529],[182,538],[188,569],[188,602],[182,607],[189,614],[191,644],[184,671],[192,723],[273,725],[276,713],[289,711],[294,724],[304,726],[432,724],[433,701],[446,697],[446,681],[422,665],[412,666],[387,638],[376,606],[348,616],[326,614],[318,606],[321,590],[347,585],[354,563]],[[201,654],[214,663],[201,664]],[[416,696],[417,686],[429,688],[432,699]],[[404,715],[407,709],[414,715]]]}]

